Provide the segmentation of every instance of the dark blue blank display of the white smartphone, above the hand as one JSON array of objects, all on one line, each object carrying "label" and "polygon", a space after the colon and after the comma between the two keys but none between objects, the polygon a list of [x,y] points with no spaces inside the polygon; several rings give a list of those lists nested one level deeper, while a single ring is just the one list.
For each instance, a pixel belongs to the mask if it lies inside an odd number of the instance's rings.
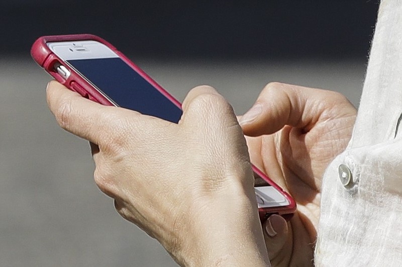
[{"label": "dark blue blank display of the white smartphone, above the hand", "polygon": [[177,123],[182,111],[120,58],[69,60],[120,107]]}]

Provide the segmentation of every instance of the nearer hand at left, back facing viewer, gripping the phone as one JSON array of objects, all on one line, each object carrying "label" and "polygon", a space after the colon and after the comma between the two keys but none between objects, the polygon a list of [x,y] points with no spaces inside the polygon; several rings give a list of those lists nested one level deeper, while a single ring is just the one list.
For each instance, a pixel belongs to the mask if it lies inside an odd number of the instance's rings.
[{"label": "nearer hand at left, back facing viewer, gripping the phone", "polygon": [[94,179],[117,211],[182,265],[269,265],[247,145],[211,87],[190,91],[179,124],[102,106],[57,82],[59,125],[91,143]]}]

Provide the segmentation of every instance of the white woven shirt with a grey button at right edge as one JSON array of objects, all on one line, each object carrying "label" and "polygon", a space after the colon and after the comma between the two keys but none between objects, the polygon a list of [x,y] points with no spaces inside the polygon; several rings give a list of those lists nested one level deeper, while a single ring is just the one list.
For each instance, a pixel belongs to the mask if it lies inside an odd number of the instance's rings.
[{"label": "white woven shirt with a grey button at right edge", "polygon": [[317,266],[402,266],[401,114],[402,1],[382,0],[353,135],[323,179]]}]

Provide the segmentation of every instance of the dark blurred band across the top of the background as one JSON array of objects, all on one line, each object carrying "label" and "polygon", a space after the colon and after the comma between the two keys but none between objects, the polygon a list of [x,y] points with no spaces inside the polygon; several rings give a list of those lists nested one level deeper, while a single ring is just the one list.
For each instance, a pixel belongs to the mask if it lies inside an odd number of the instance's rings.
[{"label": "dark blurred band across the top of the background", "polygon": [[367,56],[378,1],[50,1],[0,3],[0,54],[43,35],[91,33],[154,58]]}]

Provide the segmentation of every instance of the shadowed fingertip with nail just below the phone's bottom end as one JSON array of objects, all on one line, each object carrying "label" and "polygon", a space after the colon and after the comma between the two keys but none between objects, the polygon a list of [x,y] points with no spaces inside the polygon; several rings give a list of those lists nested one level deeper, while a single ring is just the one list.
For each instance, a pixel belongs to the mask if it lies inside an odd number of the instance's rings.
[{"label": "shadowed fingertip with nail just below the phone's bottom end", "polygon": [[264,239],[272,266],[284,263],[291,252],[291,231],[286,220],[277,214],[269,216],[263,225]]}]

